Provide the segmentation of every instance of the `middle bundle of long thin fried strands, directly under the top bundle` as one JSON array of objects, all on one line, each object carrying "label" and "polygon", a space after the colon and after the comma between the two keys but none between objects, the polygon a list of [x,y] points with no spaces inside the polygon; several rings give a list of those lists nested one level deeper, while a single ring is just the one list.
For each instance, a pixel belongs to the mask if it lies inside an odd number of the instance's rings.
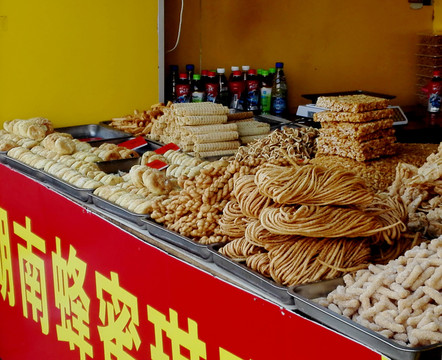
[{"label": "middle bundle of long thin fried strands, directly under the top bundle", "polygon": [[259,219],[264,228],[281,235],[368,237],[388,228],[364,211],[333,206],[267,208]]}]

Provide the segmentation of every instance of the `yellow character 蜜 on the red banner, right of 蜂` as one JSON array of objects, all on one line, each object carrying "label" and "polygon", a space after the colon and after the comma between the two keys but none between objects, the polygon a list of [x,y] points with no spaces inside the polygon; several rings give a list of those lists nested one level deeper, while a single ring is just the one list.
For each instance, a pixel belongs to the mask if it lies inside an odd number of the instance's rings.
[{"label": "yellow character \u871c on the red banner, right of \u8702", "polygon": [[96,272],[97,298],[100,300],[98,327],[104,343],[106,360],[133,360],[125,349],[138,350],[141,344],[136,326],[139,325],[137,298],[120,287],[118,274],[111,272],[108,279]]}]

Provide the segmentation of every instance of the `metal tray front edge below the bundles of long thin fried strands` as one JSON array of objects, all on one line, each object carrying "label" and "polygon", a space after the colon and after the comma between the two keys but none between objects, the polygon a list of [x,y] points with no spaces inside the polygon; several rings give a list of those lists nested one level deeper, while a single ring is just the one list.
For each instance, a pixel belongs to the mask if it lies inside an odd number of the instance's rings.
[{"label": "metal tray front edge below the bundles of long thin fried strands", "polygon": [[227,270],[228,272],[238,276],[242,280],[255,286],[259,290],[273,296],[285,305],[293,304],[293,297],[287,292],[287,287],[282,286],[274,282],[273,280],[266,278],[258,272],[248,268],[247,266],[233,261],[221,254],[218,250],[222,247],[221,244],[215,244],[209,246],[209,251],[212,253],[213,262],[220,268]]}]

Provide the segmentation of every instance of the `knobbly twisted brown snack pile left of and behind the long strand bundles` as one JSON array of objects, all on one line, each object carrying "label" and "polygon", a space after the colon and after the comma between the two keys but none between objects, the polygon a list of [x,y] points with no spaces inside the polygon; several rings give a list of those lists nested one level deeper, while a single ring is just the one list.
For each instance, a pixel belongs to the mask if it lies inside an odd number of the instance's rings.
[{"label": "knobbly twisted brown snack pile left of and behind the long strand bundles", "polygon": [[278,130],[241,147],[229,161],[204,166],[193,179],[180,176],[181,192],[158,202],[151,217],[200,243],[226,242],[219,222],[232,197],[234,179],[254,174],[265,162],[309,161],[315,154],[316,133],[313,128]]}]

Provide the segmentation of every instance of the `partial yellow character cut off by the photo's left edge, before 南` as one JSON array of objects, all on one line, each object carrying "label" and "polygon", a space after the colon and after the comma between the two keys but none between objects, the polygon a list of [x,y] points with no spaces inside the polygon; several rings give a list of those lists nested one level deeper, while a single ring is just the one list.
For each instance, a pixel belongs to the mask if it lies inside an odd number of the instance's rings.
[{"label": "partial yellow character cut off by the photo's left edge, before \u5357", "polygon": [[0,294],[3,300],[6,300],[6,295],[8,296],[9,306],[15,305],[8,213],[2,208],[0,208]]}]

